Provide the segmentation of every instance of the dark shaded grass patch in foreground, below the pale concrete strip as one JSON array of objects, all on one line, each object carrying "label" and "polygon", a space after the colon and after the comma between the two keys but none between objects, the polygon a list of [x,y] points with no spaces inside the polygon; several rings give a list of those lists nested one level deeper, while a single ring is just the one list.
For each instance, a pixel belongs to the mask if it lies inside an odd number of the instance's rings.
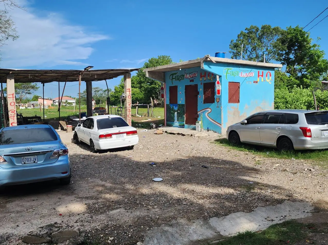
[{"label": "dark shaded grass patch in foreground, below the pale concrete strip", "polygon": [[[285,221],[268,227],[264,231],[246,230],[238,232],[215,245],[280,245],[295,244],[297,241],[311,240],[311,233],[319,232],[313,224],[304,224],[297,221]],[[320,231],[322,232],[322,231]],[[308,238],[309,237],[309,238]],[[213,243],[212,243],[213,244]]]}]

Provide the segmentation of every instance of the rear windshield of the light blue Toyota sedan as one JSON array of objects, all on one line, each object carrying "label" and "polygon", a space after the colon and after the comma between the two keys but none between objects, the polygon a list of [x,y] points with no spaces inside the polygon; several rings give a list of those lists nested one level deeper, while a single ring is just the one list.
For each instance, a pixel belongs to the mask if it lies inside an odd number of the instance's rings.
[{"label": "rear windshield of the light blue Toyota sedan", "polygon": [[25,144],[58,140],[51,128],[22,128],[2,130],[0,145]]}]

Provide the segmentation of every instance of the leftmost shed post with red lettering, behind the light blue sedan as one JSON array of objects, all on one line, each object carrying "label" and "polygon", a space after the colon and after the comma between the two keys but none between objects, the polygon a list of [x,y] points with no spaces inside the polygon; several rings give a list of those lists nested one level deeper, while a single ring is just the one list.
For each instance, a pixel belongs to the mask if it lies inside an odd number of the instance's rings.
[{"label": "leftmost shed post with red lettering, behind the light blue sedan", "polygon": [[9,115],[9,126],[17,126],[16,96],[14,75],[7,75],[7,104]]}]

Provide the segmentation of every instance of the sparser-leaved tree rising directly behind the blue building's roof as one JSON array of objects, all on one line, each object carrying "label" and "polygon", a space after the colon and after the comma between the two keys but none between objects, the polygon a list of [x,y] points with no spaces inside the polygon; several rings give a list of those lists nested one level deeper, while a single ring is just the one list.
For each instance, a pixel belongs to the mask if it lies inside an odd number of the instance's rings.
[{"label": "sparser-leaved tree rising directly behind the blue building's roof", "polygon": [[244,60],[263,62],[264,54],[266,62],[276,60],[274,43],[280,35],[281,28],[279,26],[271,27],[271,25],[265,24],[259,28],[251,25],[245,28],[245,31],[241,31],[236,40],[231,40],[229,45],[231,58],[240,59],[243,44],[242,58]]}]

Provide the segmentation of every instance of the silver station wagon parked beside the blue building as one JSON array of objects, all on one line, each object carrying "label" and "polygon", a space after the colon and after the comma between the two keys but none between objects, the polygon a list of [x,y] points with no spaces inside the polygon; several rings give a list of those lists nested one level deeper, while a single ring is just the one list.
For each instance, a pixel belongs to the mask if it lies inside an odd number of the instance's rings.
[{"label": "silver station wagon parked beside the blue building", "polygon": [[280,151],[328,148],[328,111],[272,110],[228,127],[227,139],[277,147]]}]

